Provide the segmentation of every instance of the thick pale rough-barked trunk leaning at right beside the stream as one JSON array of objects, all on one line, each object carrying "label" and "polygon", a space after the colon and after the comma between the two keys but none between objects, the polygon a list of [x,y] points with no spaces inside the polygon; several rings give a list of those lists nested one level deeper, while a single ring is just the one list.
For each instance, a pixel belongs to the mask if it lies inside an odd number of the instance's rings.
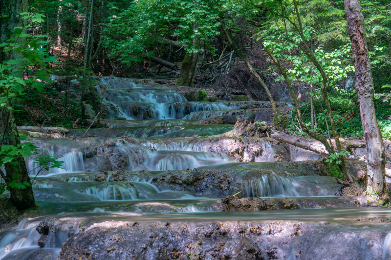
[{"label": "thick pale rough-barked trunk leaning at right beside the stream", "polygon": [[385,185],[386,158],[373,103],[373,78],[370,71],[367,37],[360,0],[345,0],[345,11],[356,74],[355,88],[367,144],[367,189],[384,193],[387,191]]}]

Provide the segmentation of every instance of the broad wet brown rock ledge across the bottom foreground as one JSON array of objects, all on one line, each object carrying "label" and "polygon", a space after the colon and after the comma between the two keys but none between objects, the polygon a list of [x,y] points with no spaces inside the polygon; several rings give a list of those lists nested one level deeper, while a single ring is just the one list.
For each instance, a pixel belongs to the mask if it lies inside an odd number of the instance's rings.
[{"label": "broad wet brown rock ledge across the bottom foreground", "polygon": [[[374,260],[383,256],[382,246],[375,245],[383,245],[387,233],[378,226],[346,229],[344,225],[328,222],[104,221],[66,240],[59,259],[288,259],[295,256],[310,260],[325,259],[327,255],[327,259]],[[317,240],[309,239],[314,234]],[[351,250],[349,254],[346,249]],[[387,251],[385,255],[391,256]]]}]

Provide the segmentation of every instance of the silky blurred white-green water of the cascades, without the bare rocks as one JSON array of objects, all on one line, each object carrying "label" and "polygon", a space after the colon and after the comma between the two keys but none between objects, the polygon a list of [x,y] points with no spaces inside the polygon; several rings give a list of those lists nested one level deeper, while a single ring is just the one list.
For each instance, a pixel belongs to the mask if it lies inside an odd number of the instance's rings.
[{"label": "silky blurred white-green water of the cascades, without the bare rocks", "polygon": [[[108,110],[109,128],[91,129],[87,135],[97,137],[144,138],[140,143],[116,142],[126,159],[126,168],[119,170],[139,171],[130,177],[115,181],[108,174],[106,180],[96,181],[85,173],[86,154],[76,147],[64,144],[45,144],[42,155],[60,157],[62,168],[50,168],[35,180],[33,187],[37,204],[42,207],[43,217],[22,220],[0,240],[0,259],[29,259],[36,253],[45,259],[56,259],[62,243],[72,234],[62,232],[53,245],[40,248],[40,234],[36,226],[47,217],[58,219],[84,218],[104,221],[329,221],[341,222],[356,218],[390,218],[391,210],[384,208],[316,208],[295,210],[264,210],[259,212],[221,212],[216,205],[221,198],[197,195],[193,191],[159,189],[152,184],[153,178],[168,176],[174,170],[217,169],[234,170],[239,175],[251,173],[260,165],[270,174],[247,178],[240,183],[244,198],[292,198],[325,200],[338,198],[335,194],[339,184],[327,177],[311,176],[289,166],[289,163],[273,162],[273,147],[265,142],[261,152],[254,154],[252,162],[237,162],[226,154],[211,153],[211,147],[202,143],[181,140],[184,137],[212,136],[228,132],[232,125],[200,125],[200,120],[222,115],[237,115],[241,102],[189,102],[172,91],[138,85],[133,80],[102,77],[104,87],[96,87]],[[86,129],[72,130],[70,135],[82,136]],[[161,141],[165,138],[175,142]],[[80,148],[80,147],[79,147]],[[247,148],[246,148],[247,149]],[[246,151],[249,152],[249,151]],[[34,178],[38,164],[27,160],[27,168]],[[262,163],[261,162],[270,162]],[[278,174],[277,171],[283,174]],[[190,171],[189,174],[192,174]],[[333,182],[334,181],[334,182]],[[233,194],[231,194],[233,195]],[[388,223],[362,224],[349,222],[349,228],[378,228],[390,230]],[[77,231],[79,232],[79,231]],[[391,244],[391,233],[384,243],[383,255],[387,259]]]}]

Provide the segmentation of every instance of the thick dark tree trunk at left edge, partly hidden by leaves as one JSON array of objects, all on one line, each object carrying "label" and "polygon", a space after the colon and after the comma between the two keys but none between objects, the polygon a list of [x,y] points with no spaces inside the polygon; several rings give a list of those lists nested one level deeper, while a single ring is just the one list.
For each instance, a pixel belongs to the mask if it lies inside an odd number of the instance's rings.
[{"label": "thick dark tree trunk at left edge, partly hidden by leaves", "polygon": [[[25,27],[26,20],[22,20],[20,13],[28,12],[28,1],[27,0],[3,0],[0,1],[0,17],[1,17],[1,30],[0,30],[0,42],[4,42],[9,38],[13,37],[14,27]],[[23,39],[19,39],[22,41]],[[7,57],[0,57],[0,61],[7,58],[17,59],[15,53],[7,54]],[[0,75],[1,79],[1,75]],[[1,90],[2,91],[2,90]],[[12,106],[12,103],[9,104]],[[7,109],[7,106],[0,108],[0,146],[1,145],[18,145],[20,144],[19,134],[15,123],[15,118],[12,111]],[[13,180],[12,176],[16,174],[19,178],[16,179],[18,183],[24,181],[30,183],[30,177],[28,176],[26,163],[22,156],[18,156],[14,159],[18,162],[16,166],[11,165],[9,162],[6,163],[5,173],[0,170],[1,177],[6,181],[10,182]],[[35,205],[33,189],[30,186],[26,186],[24,189],[10,188],[11,202],[16,206],[17,209],[23,210],[30,208]]]}]

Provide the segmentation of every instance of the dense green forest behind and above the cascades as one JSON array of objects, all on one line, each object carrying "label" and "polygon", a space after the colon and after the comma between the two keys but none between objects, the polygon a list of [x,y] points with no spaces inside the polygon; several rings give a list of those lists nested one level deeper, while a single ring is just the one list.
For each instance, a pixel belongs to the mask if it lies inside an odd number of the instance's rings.
[{"label": "dense green forest behind and above the cascades", "polygon": [[[292,3],[282,3],[31,0],[29,12],[35,16],[28,18],[27,33],[33,38],[43,37],[40,38],[44,44],[42,47],[48,56],[56,58],[49,62],[50,73],[66,77],[44,85],[43,91],[26,89],[19,101],[17,124],[80,124],[82,121],[78,119],[84,113],[80,97],[95,110],[99,110],[99,105],[88,88],[72,84],[72,79],[83,75],[178,78],[182,61],[193,54],[197,56],[193,85],[198,89],[223,90],[227,100],[230,99],[230,89],[237,89],[250,100],[268,100],[245,62],[227,42],[223,32],[226,30],[266,82],[273,98],[291,101],[281,73],[263,50],[265,44],[270,46],[303,102],[304,120],[309,125],[311,114],[314,115],[317,131],[326,135],[329,122],[323,115],[325,104],[320,99],[321,77],[300,49],[298,32],[281,18],[285,15],[294,19]],[[298,5],[305,38],[330,79],[327,88],[338,130],[344,137],[362,136],[344,2],[299,1]],[[361,5],[377,117],[383,137],[390,139],[391,4],[389,1],[363,0]],[[42,19],[32,19],[36,14],[41,14]],[[289,31],[288,38],[284,36],[285,29]],[[165,67],[164,62],[173,67]],[[34,72],[30,74],[34,77]],[[63,84],[64,81],[68,84]],[[305,93],[310,89],[315,113],[309,113],[308,109],[310,96]],[[281,119],[285,120],[288,130],[303,134],[294,116]]]}]

